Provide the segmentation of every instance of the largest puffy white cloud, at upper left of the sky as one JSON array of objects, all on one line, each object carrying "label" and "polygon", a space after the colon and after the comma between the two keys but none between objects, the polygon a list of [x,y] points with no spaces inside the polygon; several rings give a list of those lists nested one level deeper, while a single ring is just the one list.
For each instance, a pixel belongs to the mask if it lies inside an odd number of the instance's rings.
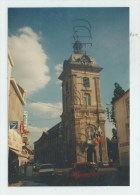
[{"label": "largest puffy white cloud, at upper left of the sky", "polygon": [[40,36],[30,27],[19,29],[8,40],[15,64],[12,76],[29,93],[45,87],[50,80],[48,56],[39,40]]}]

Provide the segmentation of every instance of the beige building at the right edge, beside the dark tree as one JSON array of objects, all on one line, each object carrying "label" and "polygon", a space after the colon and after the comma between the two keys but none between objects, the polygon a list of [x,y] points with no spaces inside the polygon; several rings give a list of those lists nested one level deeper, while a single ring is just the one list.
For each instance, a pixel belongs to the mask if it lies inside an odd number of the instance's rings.
[{"label": "beige building at the right edge, beside the dark tree", "polygon": [[118,134],[119,160],[121,166],[129,166],[129,90],[114,103],[116,128]]}]

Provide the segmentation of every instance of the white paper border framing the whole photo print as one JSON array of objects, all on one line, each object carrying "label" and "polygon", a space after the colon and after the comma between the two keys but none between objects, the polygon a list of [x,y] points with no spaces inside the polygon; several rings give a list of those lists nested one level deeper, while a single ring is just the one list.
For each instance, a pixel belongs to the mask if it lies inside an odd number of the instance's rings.
[{"label": "white paper border framing the whole photo print", "polygon": [[[1,0],[0,2],[0,194],[140,194],[140,1],[139,0]],[[130,186],[8,187],[7,178],[7,19],[8,7],[130,8]]]}]

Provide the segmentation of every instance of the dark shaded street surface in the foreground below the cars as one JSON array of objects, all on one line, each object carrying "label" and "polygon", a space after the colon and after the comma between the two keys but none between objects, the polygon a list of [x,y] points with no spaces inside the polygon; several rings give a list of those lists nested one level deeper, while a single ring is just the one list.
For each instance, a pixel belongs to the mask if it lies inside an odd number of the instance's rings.
[{"label": "dark shaded street surface in the foreground below the cars", "polygon": [[9,186],[129,186],[129,174],[127,171],[116,168],[100,168],[98,178],[89,178],[85,181],[75,182],[69,178],[67,169],[62,175],[53,179],[39,179],[38,177],[21,178],[18,182]]}]

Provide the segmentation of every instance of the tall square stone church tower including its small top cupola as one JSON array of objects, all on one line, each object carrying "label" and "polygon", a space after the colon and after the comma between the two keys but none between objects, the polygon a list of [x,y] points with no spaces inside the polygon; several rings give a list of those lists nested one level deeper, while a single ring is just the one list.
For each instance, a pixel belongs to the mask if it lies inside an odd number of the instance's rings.
[{"label": "tall square stone church tower including its small top cupola", "polygon": [[107,162],[105,115],[101,103],[100,71],[76,38],[73,54],[64,61],[62,81],[65,161]]}]

